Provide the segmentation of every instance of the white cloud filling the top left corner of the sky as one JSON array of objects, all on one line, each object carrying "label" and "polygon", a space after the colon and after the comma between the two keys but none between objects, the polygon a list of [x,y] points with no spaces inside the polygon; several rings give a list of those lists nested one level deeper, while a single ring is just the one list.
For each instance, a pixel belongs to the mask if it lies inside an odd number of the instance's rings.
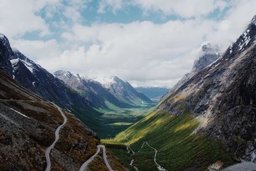
[{"label": "white cloud filling the top left corner of the sky", "polygon": [[49,34],[45,20],[35,13],[52,3],[56,1],[0,0],[0,32],[7,36],[21,36],[31,31],[38,31],[41,36]]}]

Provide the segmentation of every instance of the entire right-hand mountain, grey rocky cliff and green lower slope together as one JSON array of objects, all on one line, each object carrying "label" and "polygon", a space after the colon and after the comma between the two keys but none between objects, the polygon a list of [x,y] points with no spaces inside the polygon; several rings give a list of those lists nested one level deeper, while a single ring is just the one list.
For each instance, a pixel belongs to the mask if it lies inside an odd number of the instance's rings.
[{"label": "entire right-hand mountain, grey rocky cliff and green lower slope together", "polygon": [[[132,158],[119,157],[132,159],[140,170],[157,170],[158,165],[168,170],[219,170],[255,162],[255,24],[256,16],[223,56],[184,80],[147,117],[109,140],[129,144],[136,152]],[[143,147],[143,142],[149,145]],[[150,147],[157,150],[157,165],[152,164]]]}]

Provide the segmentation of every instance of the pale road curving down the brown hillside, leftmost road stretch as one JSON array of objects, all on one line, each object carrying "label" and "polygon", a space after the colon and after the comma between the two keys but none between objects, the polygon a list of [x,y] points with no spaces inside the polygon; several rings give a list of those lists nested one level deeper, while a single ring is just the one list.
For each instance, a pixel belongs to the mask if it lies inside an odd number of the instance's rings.
[{"label": "pale road curving down the brown hillside, leftmost road stretch", "polygon": [[58,139],[60,137],[60,129],[67,123],[67,117],[65,116],[65,114],[63,114],[60,107],[58,107],[54,103],[52,103],[52,105],[54,105],[56,108],[58,108],[58,110],[59,110],[60,114],[62,115],[64,121],[60,126],[58,126],[58,128],[55,131],[55,140],[54,140],[54,142],[49,147],[47,147],[47,149],[45,151],[45,158],[46,158],[46,163],[47,163],[47,167],[46,167],[45,171],[50,171],[51,170],[50,152],[51,152],[51,150],[53,149],[54,145],[56,144],[56,142],[58,141]]}]

